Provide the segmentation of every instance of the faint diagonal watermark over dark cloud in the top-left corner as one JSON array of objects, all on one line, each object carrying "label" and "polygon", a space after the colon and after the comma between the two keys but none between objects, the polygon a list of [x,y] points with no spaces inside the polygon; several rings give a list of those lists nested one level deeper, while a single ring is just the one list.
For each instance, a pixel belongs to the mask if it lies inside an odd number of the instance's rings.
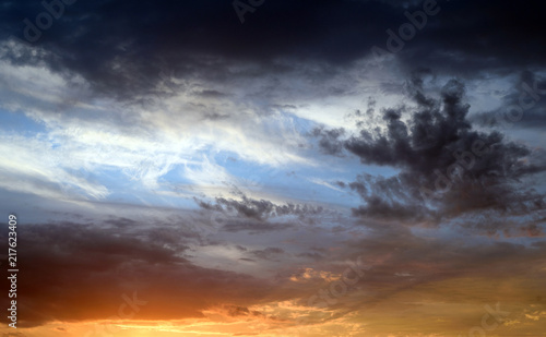
[{"label": "faint diagonal watermark over dark cloud in the top-left corner", "polygon": [[28,43],[36,43],[41,37],[44,31],[51,28],[55,20],[59,20],[64,14],[64,5],[71,5],[78,0],[51,0],[50,2],[41,1],[41,7],[45,11],[36,15],[34,22],[28,17],[23,20],[25,27],[23,36]]}]

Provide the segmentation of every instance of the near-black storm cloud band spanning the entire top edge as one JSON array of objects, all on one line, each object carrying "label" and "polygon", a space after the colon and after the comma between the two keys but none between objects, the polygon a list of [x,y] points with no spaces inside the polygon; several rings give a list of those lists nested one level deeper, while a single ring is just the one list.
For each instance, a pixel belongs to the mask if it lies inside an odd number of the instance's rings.
[{"label": "near-black storm cloud band spanning the entire top edge", "polygon": [[[406,67],[434,64],[470,73],[544,65],[542,2],[438,1],[437,5],[439,14],[428,16],[423,29],[396,53]],[[274,62],[283,58],[323,62],[320,76],[328,76],[335,73],[331,65],[370,56],[372,46],[387,48],[385,31],[397,34],[408,22],[406,10],[423,11],[417,1],[402,5],[280,0],[266,1],[240,24],[232,1],[221,0],[75,1],[63,7],[63,14],[31,44],[40,52],[15,48],[4,50],[3,57],[16,64],[45,64],[56,72],[80,74],[97,92],[132,99],[132,95],[168,94],[161,85],[170,87],[174,82],[165,73],[225,82],[289,71],[287,63]],[[40,1],[4,3],[1,38],[24,40],[28,25],[23,21],[36,24],[44,12]],[[217,96],[212,88],[202,93]]]}]

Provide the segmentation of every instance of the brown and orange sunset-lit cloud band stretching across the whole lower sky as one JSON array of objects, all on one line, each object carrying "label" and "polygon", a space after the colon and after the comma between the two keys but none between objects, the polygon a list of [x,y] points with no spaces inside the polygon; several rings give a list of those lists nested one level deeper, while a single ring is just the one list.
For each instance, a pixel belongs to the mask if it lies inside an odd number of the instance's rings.
[{"label": "brown and orange sunset-lit cloud band stretching across the whole lower sky", "polygon": [[[321,290],[331,296],[329,289],[339,284],[335,276],[349,266],[364,273],[364,277],[330,305],[337,316],[370,312],[388,303],[399,305],[396,300],[392,302],[396,294],[419,292],[420,287],[438,287],[441,282],[448,289],[435,288],[428,296],[458,303],[485,298],[490,301],[496,291],[503,289],[506,302],[534,304],[544,289],[539,281],[545,273],[543,242],[525,246],[507,242],[473,244],[463,238],[430,240],[388,225],[365,238],[345,240],[343,250],[304,250],[299,255],[309,255],[313,261],[305,269],[294,264],[292,252],[278,246],[235,246],[248,256],[239,258],[245,263],[276,262],[285,266],[268,280],[195,265],[182,257],[188,251],[183,232],[153,237],[154,230],[135,220],[112,218],[108,222],[106,228],[97,226],[100,224],[73,222],[21,227],[20,243],[25,246],[20,252],[25,263],[24,275],[21,274],[24,277],[17,284],[24,303],[20,306],[22,327],[116,316],[123,303],[121,296],[131,297],[134,292],[139,301],[145,302],[139,311],[140,320],[203,317],[203,311],[216,304],[224,305],[228,315],[262,316],[269,314],[251,312],[249,306],[285,300],[312,309],[309,298]],[[0,239],[5,239],[4,232]],[[174,245],[175,241],[181,244]],[[525,287],[509,291],[502,282],[491,281],[521,277],[529,277]],[[450,282],[458,279],[484,279],[492,288],[490,293],[484,293],[478,285],[465,289],[465,297],[451,291]],[[364,289],[365,296],[358,289]],[[477,293],[482,293],[479,300]]]}]

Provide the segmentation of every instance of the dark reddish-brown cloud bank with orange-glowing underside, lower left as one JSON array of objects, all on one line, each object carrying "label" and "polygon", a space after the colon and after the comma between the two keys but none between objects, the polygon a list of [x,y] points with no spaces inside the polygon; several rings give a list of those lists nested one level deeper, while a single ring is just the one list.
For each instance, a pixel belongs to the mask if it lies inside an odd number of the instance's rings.
[{"label": "dark reddish-brown cloud bank with orange-glowing underside, lower left", "polygon": [[[201,317],[211,303],[247,305],[270,291],[264,280],[203,268],[181,257],[187,248],[173,249],[173,240],[183,242],[183,236],[151,237],[152,231],[141,229],[72,222],[19,227],[19,243],[25,246],[17,252],[24,263],[17,280],[20,325],[106,320],[119,315],[123,293],[131,298],[136,292],[147,302],[140,306],[139,318],[177,320]],[[5,233],[1,237],[7,240]]]}]

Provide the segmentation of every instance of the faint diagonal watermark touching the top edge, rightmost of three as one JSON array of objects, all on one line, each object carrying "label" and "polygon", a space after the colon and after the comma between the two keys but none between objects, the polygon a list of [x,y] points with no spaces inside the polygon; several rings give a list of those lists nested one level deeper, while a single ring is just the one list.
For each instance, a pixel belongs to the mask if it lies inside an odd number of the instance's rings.
[{"label": "faint diagonal watermark touching the top edge, rightmost of three", "polygon": [[436,0],[425,0],[423,2],[423,11],[415,11],[413,13],[405,11],[404,15],[408,22],[399,26],[397,34],[391,28],[387,29],[387,50],[378,46],[371,47],[371,55],[373,56],[376,65],[380,69],[383,68],[384,59],[404,49],[405,43],[412,40],[417,35],[417,31],[422,31],[427,25],[428,16],[438,14],[441,8],[438,7]]}]

